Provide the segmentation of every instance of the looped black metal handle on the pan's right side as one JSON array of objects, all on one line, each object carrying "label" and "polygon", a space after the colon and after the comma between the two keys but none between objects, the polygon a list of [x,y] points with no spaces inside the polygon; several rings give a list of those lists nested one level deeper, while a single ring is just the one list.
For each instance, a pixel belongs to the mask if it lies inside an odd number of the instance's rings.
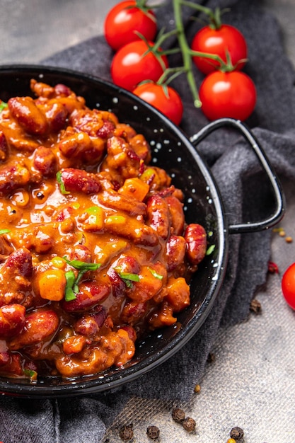
[{"label": "looped black metal handle on the pan's right side", "polygon": [[274,169],[272,168],[270,161],[267,159],[265,151],[263,151],[258,140],[254,136],[254,134],[250,131],[250,129],[243,122],[241,122],[241,120],[235,120],[229,117],[220,118],[219,120],[214,120],[214,122],[211,122],[205,127],[203,127],[202,130],[197,132],[197,134],[192,135],[192,137],[190,137],[190,142],[192,142],[194,146],[197,146],[199,142],[202,142],[202,140],[205,137],[207,137],[209,134],[214,132],[214,130],[217,130],[220,127],[224,126],[235,128],[236,130],[238,130],[238,132],[241,132],[243,137],[248,141],[253,151],[255,152],[256,156],[258,157],[258,160],[260,161],[262,168],[265,170],[265,173],[267,173],[267,176],[272,185],[272,190],[274,192],[274,199],[276,202],[274,213],[270,215],[269,218],[262,220],[261,222],[230,224],[229,232],[230,234],[240,234],[240,233],[244,234],[246,232],[257,232],[257,231],[262,231],[263,229],[269,229],[271,226],[279,222],[279,220],[282,219],[284,215],[284,205],[285,205],[284,194],[282,192],[282,187],[279,183],[279,179],[274,173]]}]

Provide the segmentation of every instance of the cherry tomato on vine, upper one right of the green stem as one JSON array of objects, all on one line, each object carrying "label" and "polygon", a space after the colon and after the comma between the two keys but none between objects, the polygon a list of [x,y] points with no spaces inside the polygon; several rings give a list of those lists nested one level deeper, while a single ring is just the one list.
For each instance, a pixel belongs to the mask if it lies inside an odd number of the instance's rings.
[{"label": "cherry tomato on vine, upper one right of the green stem", "polygon": [[[204,26],[193,38],[191,48],[194,51],[219,55],[224,62],[226,62],[226,51],[228,51],[235,70],[242,69],[245,62],[239,62],[247,58],[245,38],[237,28],[231,25],[221,25],[219,29],[212,29],[209,25]],[[192,59],[199,71],[204,74],[216,71],[220,67],[216,60],[205,57],[192,57]]]}]

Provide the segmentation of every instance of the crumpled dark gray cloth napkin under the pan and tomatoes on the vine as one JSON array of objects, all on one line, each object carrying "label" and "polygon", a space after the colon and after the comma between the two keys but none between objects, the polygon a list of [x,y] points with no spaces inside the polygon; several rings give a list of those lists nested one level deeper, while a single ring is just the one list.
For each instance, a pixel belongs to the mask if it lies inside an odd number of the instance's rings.
[{"label": "crumpled dark gray cloth napkin under the pan and tomatoes on the vine", "polygon": [[[249,74],[258,91],[255,112],[248,125],[265,149],[280,178],[295,181],[295,94],[294,69],[284,54],[277,21],[260,7],[258,0],[208,0],[209,7],[231,8],[224,23],[236,25],[248,42]],[[187,38],[202,24],[190,21],[192,11],[183,13]],[[197,14],[199,16],[199,14]],[[158,10],[159,27],[169,29],[173,13],[167,6]],[[172,26],[172,24],[170,24]],[[169,42],[173,45],[175,42]],[[112,51],[103,36],[54,54],[42,64],[66,67],[110,80]],[[179,56],[170,57],[179,65]],[[197,84],[202,74],[195,72]],[[190,137],[207,124],[202,112],[192,105],[183,77],[174,81],[185,104],[182,127]],[[241,137],[222,130],[199,145],[221,190],[231,223],[262,219],[270,209],[268,185],[258,161]],[[5,443],[99,442],[106,427],[131,396],[186,401],[202,376],[216,332],[223,325],[245,321],[255,290],[265,283],[270,260],[270,231],[229,236],[229,265],[223,287],[202,328],[168,362],[125,386],[89,398],[25,400],[2,397],[1,433]]]}]

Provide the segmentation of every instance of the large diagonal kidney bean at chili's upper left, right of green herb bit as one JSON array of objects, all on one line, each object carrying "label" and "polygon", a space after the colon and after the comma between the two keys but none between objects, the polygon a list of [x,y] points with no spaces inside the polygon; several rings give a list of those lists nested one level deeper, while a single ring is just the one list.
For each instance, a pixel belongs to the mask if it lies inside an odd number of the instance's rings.
[{"label": "large diagonal kidney bean at chili's upper left, right of green herb bit", "polygon": [[29,134],[45,135],[48,130],[46,117],[37,108],[33,98],[13,97],[8,100],[11,115]]}]

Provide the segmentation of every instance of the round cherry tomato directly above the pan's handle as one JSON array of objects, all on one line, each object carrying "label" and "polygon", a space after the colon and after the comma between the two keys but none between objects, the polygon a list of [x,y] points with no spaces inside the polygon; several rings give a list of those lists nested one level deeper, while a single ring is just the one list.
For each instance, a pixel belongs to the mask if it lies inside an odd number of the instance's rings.
[{"label": "round cherry tomato directly above the pan's handle", "polygon": [[256,88],[247,74],[240,71],[215,71],[199,87],[202,111],[209,120],[231,117],[246,120],[255,108]]}]

